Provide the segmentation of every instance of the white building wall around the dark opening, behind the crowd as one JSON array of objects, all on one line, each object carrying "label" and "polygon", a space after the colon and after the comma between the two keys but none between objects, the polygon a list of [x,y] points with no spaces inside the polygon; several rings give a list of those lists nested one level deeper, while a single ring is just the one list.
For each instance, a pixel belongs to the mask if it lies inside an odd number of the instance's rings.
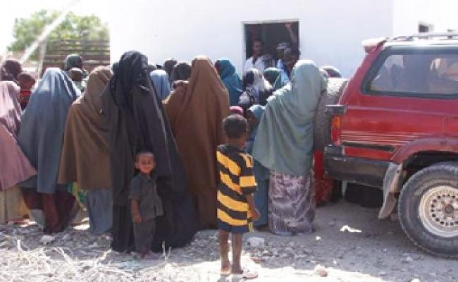
[{"label": "white building wall around the dark opening, behind the crowd", "polygon": [[[396,0],[113,1],[111,57],[136,49],[149,61],[228,57],[240,73],[245,61],[243,23],[299,20],[302,59],[333,65],[345,76],[364,56],[363,39],[391,35]],[[127,28],[126,28],[127,27]]]}]

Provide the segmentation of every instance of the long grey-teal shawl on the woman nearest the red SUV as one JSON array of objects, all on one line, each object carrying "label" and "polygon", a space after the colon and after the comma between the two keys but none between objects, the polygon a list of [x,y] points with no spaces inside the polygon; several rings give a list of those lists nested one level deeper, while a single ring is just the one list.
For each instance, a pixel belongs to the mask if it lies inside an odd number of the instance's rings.
[{"label": "long grey-teal shawl on the woman nearest the red SUV", "polygon": [[253,157],[266,168],[305,176],[311,167],[316,106],[326,80],[312,61],[297,61],[291,83],[268,98]]}]

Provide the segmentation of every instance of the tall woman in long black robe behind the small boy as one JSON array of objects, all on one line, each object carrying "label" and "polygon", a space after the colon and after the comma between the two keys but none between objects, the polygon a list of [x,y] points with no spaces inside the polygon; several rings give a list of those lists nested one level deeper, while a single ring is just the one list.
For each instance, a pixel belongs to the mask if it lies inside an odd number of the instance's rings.
[{"label": "tall woman in long black robe behind the small boy", "polygon": [[129,209],[129,185],[134,176],[135,154],[154,153],[157,188],[164,215],[156,218],[151,250],[181,247],[197,230],[197,218],[185,188],[185,171],[163,111],[147,73],[147,57],[128,51],[113,65],[113,78],[102,93],[101,114],[109,126],[109,154],[113,191],[113,242],[118,252],[134,246]]}]

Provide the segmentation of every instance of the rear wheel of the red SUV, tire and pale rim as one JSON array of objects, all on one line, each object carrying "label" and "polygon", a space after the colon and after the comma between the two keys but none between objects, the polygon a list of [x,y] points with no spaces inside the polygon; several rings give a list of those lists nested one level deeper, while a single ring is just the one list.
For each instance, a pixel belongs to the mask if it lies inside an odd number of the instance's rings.
[{"label": "rear wheel of the red SUV, tire and pale rim", "polygon": [[416,246],[458,258],[458,163],[435,164],[411,176],[401,190],[398,214]]}]

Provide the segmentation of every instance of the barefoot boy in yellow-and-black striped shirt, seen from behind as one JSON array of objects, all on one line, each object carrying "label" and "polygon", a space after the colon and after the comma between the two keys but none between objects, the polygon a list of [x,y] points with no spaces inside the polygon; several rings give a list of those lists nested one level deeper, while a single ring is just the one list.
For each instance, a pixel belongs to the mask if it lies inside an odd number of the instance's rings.
[{"label": "barefoot boy in yellow-and-black striped shirt, seen from behind", "polygon": [[[249,231],[251,221],[259,219],[253,200],[253,193],[256,191],[253,159],[243,151],[248,137],[248,123],[244,117],[233,114],[224,119],[223,128],[228,144],[218,146],[216,151],[221,178],[217,210],[221,274],[246,276],[240,266],[242,235]],[[229,233],[232,234],[232,266],[228,259]]]}]

